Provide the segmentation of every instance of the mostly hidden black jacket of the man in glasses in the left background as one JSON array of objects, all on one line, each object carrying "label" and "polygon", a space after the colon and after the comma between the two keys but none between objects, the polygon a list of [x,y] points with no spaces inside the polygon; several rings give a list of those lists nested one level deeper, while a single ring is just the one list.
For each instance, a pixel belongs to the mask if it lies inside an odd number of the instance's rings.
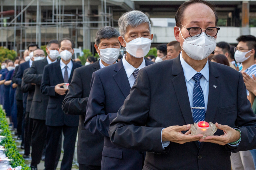
[{"label": "mostly hidden black jacket of the man in glasses in the left background", "polygon": [[[29,68],[24,70],[24,75],[29,71]],[[35,92],[35,85],[32,85],[30,83],[24,83],[24,80],[22,79],[22,84],[20,86],[20,90],[24,93],[27,94],[27,99],[26,99],[26,112],[30,112],[30,108],[32,105],[32,100]],[[24,101],[23,101],[24,102]]]}]

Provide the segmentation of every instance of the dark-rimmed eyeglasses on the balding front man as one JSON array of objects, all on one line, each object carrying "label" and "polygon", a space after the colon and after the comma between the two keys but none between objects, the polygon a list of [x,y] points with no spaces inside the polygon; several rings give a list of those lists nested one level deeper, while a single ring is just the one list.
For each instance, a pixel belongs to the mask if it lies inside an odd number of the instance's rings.
[{"label": "dark-rimmed eyeglasses on the balding front man", "polygon": [[[181,24],[181,26],[183,25]],[[188,33],[191,37],[199,37],[202,33],[202,30],[205,30],[205,34],[208,37],[215,37],[220,29],[218,27],[208,27],[207,29],[201,29],[200,27],[183,27],[188,30]]]}]

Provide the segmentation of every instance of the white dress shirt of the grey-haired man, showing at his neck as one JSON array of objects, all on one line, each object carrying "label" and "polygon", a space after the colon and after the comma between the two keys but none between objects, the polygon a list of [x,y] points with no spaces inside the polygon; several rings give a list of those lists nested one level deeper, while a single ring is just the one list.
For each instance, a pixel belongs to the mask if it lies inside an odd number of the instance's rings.
[{"label": "white dress shirt of the grey-haired man, showing at his neck", "polygon": [[135,82],[135,79],[134,79],[134,76],[133,76],[133,71],[135,70],[140,70],[144,67],[146,67],[146,62],[145,62],[145,59],[142,61],[141,65],[138,67],[138,68],[134,68],[132,65],[130,65],[130,63],[128,63],[125,59],[126,57],[126,54],[124,55],[122,61],[123,61],[123,66],[124,66],[124,69],[125,69],[125,72],[126,72],[126,75],[127,75],[127,78],[129,80],[129,84],[130,86],[132,87],[134,85],[134,82]]}]

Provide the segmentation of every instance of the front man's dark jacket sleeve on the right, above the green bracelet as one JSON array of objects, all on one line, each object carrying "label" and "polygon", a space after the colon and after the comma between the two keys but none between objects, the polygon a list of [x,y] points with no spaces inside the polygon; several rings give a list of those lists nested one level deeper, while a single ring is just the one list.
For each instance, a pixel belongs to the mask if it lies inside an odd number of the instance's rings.
[{"label": "front man's dark jacket sleeve on the right, above the green bracelet", "polygon": [[241,131],[241,141],[237,148],[229,149],[229,152],[247,151],[256,149],[256,116],[251,108],[251,103],[247,99],[246,87],[243,76],[240,73],[239,84],[237,89],[237,128]]}]

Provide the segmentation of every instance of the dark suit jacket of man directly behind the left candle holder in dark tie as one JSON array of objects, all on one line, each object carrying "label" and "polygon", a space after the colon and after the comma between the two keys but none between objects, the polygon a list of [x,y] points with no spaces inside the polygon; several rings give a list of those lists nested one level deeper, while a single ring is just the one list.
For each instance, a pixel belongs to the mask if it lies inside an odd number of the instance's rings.
[{"label": "dark suit jacket of man directly behind the left candle holder in dark tie", "polygon": [[40,91],[42,75],[44,67],[48,65],[47,59],[34,61],[32,66],[24,74],[23,80],[25,83],[34,83],[35,92],[32,101],[32,107],[30,108],[29,117],[32,119],[45,120],[45,113],[48,104],[48,96],[43,95]]}]

